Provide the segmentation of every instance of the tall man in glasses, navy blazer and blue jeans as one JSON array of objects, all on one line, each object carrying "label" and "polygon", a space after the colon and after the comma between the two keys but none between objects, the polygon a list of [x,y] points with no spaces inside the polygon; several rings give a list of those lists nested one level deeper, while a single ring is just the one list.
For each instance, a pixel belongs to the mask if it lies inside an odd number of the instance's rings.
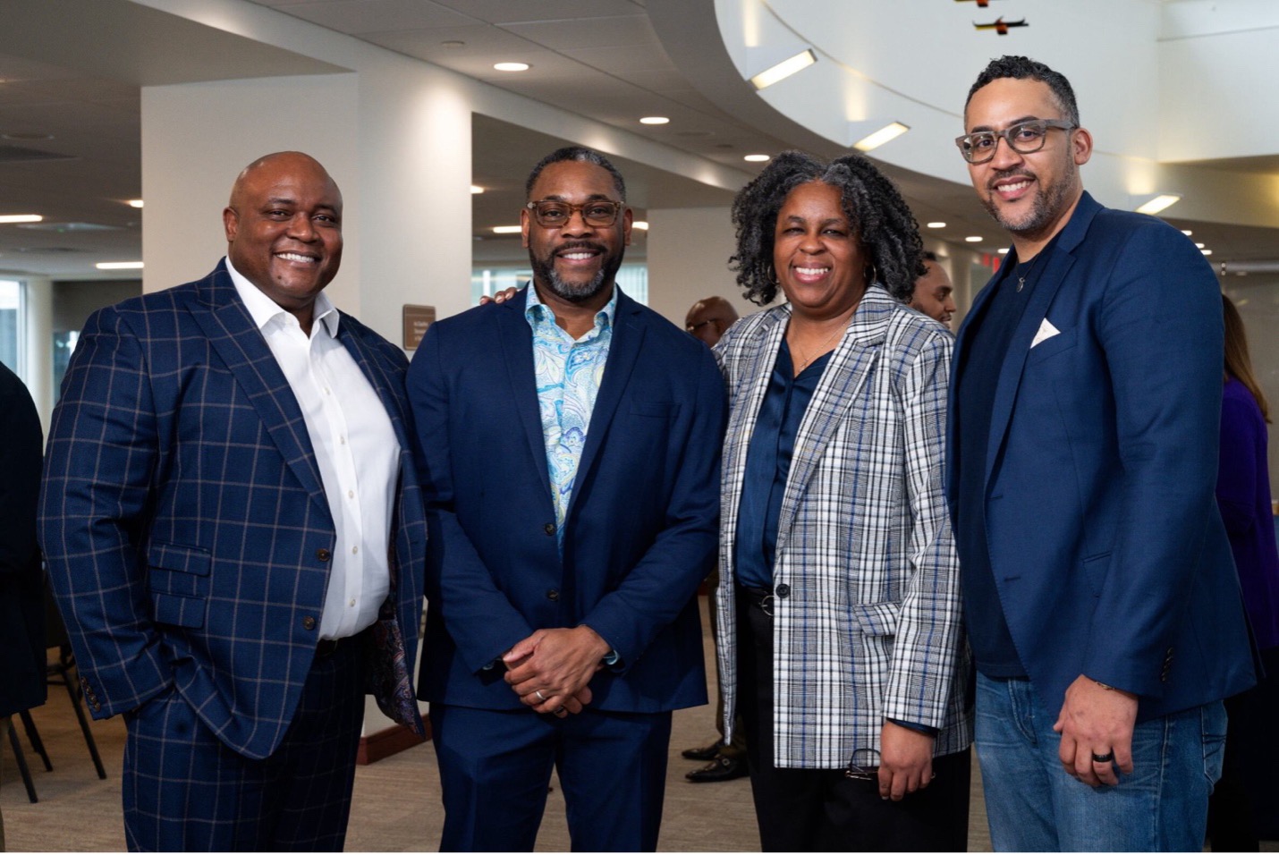
[{"label": "tall man in glasses, navy blazer and blue jeans", "polygon": [[957,139],[1012,235],[955,344],[948,493],[996,850],[1198,851],[1252,682],[1214,501],[1221,304],[1195,245],[1083,192],[1067,79],[977,78]]}]

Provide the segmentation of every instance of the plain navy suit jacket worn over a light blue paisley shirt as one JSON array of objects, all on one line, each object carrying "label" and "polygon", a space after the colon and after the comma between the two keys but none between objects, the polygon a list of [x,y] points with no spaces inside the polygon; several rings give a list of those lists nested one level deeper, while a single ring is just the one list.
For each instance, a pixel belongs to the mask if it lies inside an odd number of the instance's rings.
[{"label": "plain navy suit jacket worn over a light blue paisley shirt", "polygon": [[430,548],[422,698],[523,709],[490,666],[586,624],[620,654],[592,705],[706,702],[698,583],[718,541],[724,381],[700,341],[619,294],[556,550],[524,294],[434,323],[408,374]]}]

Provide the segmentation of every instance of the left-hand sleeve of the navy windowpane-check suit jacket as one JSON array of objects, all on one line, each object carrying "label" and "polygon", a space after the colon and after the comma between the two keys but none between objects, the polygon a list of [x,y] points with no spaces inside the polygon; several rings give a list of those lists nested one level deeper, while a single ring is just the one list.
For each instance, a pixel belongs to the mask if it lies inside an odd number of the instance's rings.
[{"label": "left-hand sleeve of the navy windowpane-check suit jacket", "polygon": [[98,688],[95,717],[133,709],[171,682],[138,553],[157,456],[138,339],[115,308],[101,309],[63,381],[41,498],[50,580],[81,676]]}]

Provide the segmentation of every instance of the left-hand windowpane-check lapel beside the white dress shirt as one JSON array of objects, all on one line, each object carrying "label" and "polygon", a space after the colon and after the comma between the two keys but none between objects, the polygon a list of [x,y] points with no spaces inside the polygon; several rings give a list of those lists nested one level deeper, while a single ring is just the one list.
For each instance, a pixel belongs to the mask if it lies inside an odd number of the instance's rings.
[{"label": "left-hand windowpane-check lapel beside the white dress shirt", "polygon": [[303,489],[327,512],[329,502],[302,409],[221,263],[200,281],[198,293],[200,302],[192,314],[208,337],[210,346],[244,390]]}]

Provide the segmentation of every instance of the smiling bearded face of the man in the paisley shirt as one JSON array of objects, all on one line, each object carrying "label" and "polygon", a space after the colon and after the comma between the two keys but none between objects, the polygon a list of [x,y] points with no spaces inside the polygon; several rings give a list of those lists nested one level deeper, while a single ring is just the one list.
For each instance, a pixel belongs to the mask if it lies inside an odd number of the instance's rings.
[{"label": "smiling bearded face of the man in the paisley shirt", "polygon": [[[528,199],[558,199],[570,204],[622,202],[606,169],[576,160],[542,169]],[[602,308],[613,297],[613,277],[622,266],[624,248],[631,245],[632,216],[631,208],[623,208],[611,226],[600,227],[588,224],[581,211],[574,211],[568,222],[547,229],[523,210],[524,248],[533,267],[538,299],[553,304],[559,298],[577,307]]]}]

